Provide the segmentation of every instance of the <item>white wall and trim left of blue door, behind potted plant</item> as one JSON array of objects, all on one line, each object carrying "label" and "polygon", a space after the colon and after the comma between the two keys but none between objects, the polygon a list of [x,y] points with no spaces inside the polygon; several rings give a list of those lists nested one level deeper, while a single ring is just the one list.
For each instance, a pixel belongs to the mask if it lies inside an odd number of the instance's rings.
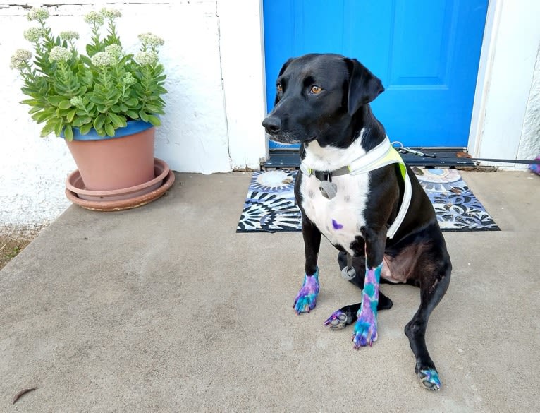
[{"label": "white wall and trim left of blue door, behind potted plant", "polygon": [[[23,30],[35,23],[27,21],[26,4],[41,3],[0,3],[1,225],[54,220],[70,205],[64,180],[76,168],[63,141],[39,138],[41,128],[18,104],[25,96],[9,61],[15,49],[30,49]],[[141,32],[165,40],[167,107],[156,156],[179,172],[257,169],[266,153],[259,1],[47,1],[49,23],[56,34],[78,31],[83,43],[88,26],[82,16],[105,5],[123,13],[118,32],[126,49],[135,51]]]}]

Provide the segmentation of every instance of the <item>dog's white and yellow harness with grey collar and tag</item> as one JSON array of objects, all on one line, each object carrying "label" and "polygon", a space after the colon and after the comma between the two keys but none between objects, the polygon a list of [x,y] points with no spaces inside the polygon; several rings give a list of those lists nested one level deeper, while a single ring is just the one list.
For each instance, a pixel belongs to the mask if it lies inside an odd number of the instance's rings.
[{"label": "dog's white and yellow harness with grey collar and tag", "polygon": [[339,169],[329,172],[314,171],[313,169],[307,168],[304,162],[302,162],[300,163],[300,170],[302,171],[302,173],[307,174],[307,176],[313,175],[316,179],[321,181],[321,184],[319,185],[321,193],[323,193],[326,198],[331,199],[336,196],[337,192],[336,184],[332,183],[332,176],[341,176],[346,174],[355,176],[358,174],[365,174],[367,172],[374,171],[375,169],[386,167],[390,164],[399,164],[401,176],[403,178],[403,181],[405,181],[405,190],[403,192],[403,200],[398,211],[398,216],[395,217],[394,222],[386,232],[386,236],[388,238],[393,238],[395,233],[398,232],[401,223],[405,219],[405,215],[407,215],[407,210],[409,209],[411,200],[412,185],[409,175],[407,174],[407,167],[405,167],[405,162],[403,162],[403,159],[401,158],[399,152],[395,150],[391,145],[388,136],[386,136],[386,138],[384,138],[384,140],[379,143],[379,145],[376,145],[375,148],[369,150],[361,157],[353,160],[346,167],[341,167]]}]

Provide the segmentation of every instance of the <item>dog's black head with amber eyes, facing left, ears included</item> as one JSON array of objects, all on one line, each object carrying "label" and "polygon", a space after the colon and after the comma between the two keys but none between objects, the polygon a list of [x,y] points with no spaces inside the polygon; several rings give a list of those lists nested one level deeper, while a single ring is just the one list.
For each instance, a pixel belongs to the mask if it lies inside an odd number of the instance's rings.
[{"label": "dog's black head with amber eyes, facing left, ears included", "polygon": [[350,133],[359,109],[383,90],[381,80],[356,59],[306,54],[281,68],[274,109],[262,125],[276,142],[338,144]]}]

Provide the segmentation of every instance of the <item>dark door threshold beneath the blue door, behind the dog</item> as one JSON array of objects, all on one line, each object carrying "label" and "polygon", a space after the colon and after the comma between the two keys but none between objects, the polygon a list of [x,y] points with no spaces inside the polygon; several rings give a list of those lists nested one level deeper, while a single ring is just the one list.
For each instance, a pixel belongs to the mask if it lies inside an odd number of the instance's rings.
[{"label": "dark door threshold beneath the blue door, behind the dog", "polygon": [[[410,167],[474,167],[476,163],[466,157],[458,157],[458,153],[466,148],[411,148],[436,157],[424,157],[412,153],[402,153],[401,157]],[[300,168],[300,155],[297,150],[271,150],[266,161],[262,162],[261,169],[298,169]]]}]

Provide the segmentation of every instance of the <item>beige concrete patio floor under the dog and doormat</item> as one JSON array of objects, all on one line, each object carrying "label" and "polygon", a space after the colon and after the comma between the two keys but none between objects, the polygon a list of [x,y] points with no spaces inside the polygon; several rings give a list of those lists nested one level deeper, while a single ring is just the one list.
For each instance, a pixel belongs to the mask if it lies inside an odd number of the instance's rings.
[{"label": "beige concrete patio floor under the dog and doormat", "polygon": [[296,316],[301,234],[235,233],[249,173],[177,174],[143,208],[68,208],[1,270],[0,412],[539,412],[540,177],[462,175],[502,231],[445,233],[439,392],[403,333],[418,289],[383,285],[393,309],[355,352],[323,325],[360,300],[333,247],[317,309]]}]

